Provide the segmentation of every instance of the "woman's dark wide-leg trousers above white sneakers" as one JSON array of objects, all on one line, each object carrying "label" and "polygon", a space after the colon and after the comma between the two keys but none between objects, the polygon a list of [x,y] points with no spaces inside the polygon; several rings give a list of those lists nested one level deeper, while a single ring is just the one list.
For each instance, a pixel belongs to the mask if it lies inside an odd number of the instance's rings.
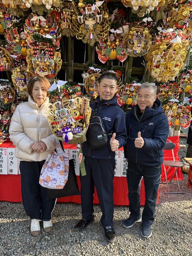
[{"label": "woman's dark wide-leg trousers above white sneakers", "polygon": [[47,200],[47,189],[39,184],[41,168],[45,161],[20,161],[23,206],[31,219],[49,221],[56,200]]}]

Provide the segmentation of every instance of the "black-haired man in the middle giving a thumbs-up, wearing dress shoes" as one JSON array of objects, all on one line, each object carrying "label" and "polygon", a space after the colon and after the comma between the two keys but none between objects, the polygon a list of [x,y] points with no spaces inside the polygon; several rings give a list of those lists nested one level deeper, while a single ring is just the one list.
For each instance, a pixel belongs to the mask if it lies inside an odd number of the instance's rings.
[{"label": "black-haired man in the middle giving a thumbs-up, wearing dress shoes", "polygon": [[105,72],[99,77],[99,96],[90,102],[103,120],[108,142],[98,149],[91,148],[89,138],[82,145],[87,175],[81,176],[82,219],[74,230],[84,230],[93,222],[93,194],[96,186],[99,204],[102,210],[101,224],[105,239],[115,240],[113,229],[113,177],[115,169],[115,151],[126,143],[125,112],[117,105],[116,88],[118,79],[115,73]]}]

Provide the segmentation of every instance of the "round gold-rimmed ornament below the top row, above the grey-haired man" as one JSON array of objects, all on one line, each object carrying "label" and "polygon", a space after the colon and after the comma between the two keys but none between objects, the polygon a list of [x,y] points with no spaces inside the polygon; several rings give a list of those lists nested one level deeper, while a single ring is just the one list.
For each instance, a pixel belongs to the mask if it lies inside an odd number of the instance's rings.
[{"label": "round gold-rimmed ornament below the top row, above the grey-haired man", "polygon": [[145,55],[151,46],[151,35],[148,28],[136,26],[128,30],[123,37],[123,47],[129,56]]}]

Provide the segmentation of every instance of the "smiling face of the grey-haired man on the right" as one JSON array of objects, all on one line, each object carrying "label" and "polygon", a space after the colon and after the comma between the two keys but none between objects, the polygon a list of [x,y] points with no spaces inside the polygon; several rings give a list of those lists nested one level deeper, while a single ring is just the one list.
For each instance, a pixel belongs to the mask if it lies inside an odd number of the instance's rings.
[{"label": "smiling face of the grey-haired man on the right", "polygon": [[154,91],[151,88],[142,88],[137,95],[137,105],[139,106],[141,113],[144,112],[146,106],[152,108],[153,103],[157,99],[157,95],[154,95]]}]

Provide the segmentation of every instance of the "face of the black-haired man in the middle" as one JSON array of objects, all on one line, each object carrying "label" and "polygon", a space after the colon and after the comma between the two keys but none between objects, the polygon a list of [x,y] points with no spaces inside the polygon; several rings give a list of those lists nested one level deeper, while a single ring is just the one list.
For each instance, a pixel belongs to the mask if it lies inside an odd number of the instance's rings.
[{"label": "face of the black-haired man in the middle", "polygon": [[104,78],[98,83],[98,90],[100,100],[110,100],[113,98],[116,92],[116,80]]}]

